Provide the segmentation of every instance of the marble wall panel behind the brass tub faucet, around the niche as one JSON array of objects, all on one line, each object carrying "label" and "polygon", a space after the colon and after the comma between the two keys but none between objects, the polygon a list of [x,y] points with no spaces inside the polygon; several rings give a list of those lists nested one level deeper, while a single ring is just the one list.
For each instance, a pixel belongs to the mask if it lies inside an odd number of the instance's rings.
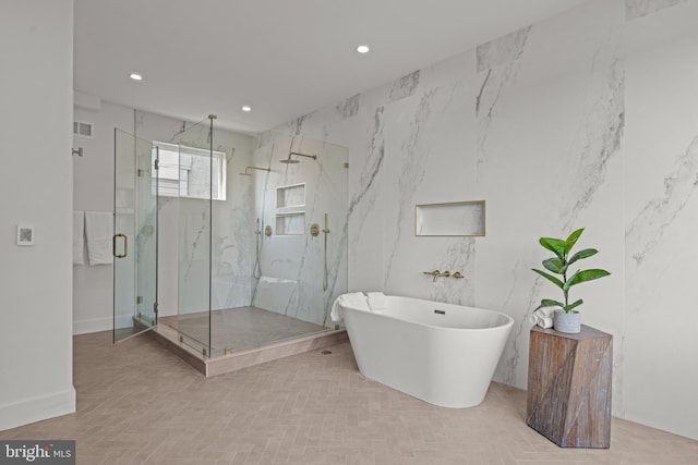
[{"label": "marble wall panel behind the brass tub faucet, around the niche", "polygon": [[[418,204],[474,200],[470,112],[472,89],[466,79],[417,93],[385,106],[383,277],[378,290],[388,294],[472,304],[474,265],[471,237],[414,235]],[[466,130],[466,131],[464,131]],[[424,271],[460,271],[465,280]]]}]

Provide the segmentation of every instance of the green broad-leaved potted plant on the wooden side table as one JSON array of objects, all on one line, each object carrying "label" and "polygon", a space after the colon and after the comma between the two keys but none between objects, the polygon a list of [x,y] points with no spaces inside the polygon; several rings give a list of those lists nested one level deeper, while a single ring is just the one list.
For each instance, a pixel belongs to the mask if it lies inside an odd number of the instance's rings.
[{"label": "green broad-leaved potted plant on the wooden side table", "polygon": [[557,307],[553,314],[553,328],[561,332],[579,332],[579,313],[575,310],[578,306],[580,306],[583,301],[581,298],[569,303],[569,289],[573,285],[581,284],[582,282],[592,281],[599,278],[607,277],[611,274],[606,270],[593,268],[588,270],[577,270],[569,278],[567,278],[567,272],[569,271],[569,267],[585,258],[589,258],[593,255],[597,255],[599,250],[595,248],[585,248],[582,250],[577,252],[571,257],[569,254],[571,253],[573,247],[577,243],[577,240],[583,232],[583,228],[578,229],[577,231],[569,234],[567,240],[554,238],[554,237],[541,237],[539,243],[553,254],[554,257],[543,260],[543,267],[550,271],[551,273],[557,274],[561,278],[557,278],[549,272],[538,270],[533,268],[538,274],[542,276],[557,287],[563,291],[563,302],[554,301],[552,298],[543,298],[541,301],[541,307]]}]

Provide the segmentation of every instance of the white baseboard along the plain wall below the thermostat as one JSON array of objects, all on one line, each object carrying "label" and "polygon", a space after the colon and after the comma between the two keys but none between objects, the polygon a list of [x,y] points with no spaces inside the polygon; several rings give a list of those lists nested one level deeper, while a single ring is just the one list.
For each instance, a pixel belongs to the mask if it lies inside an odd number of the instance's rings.
[{"label": "white baseboard along the plain wall below the thermostat", "polygon": [[74,412],[75,388],[71,386],[67,391],[0,405],[0,431]]}]

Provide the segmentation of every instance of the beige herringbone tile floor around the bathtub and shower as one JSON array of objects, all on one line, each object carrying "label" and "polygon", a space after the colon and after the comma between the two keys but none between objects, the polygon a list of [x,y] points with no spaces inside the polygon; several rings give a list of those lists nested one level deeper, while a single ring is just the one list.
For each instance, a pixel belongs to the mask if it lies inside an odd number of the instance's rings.
[{"label": "beige herringbone tile floor around the bathtub and shower", "polygon": [[432,406],[363,378],[348,343],[204,378],[147,336],[74,339],[77,413],[0,431],[75,439],[79,464],[698,464],[698,441],[615,419],[611,449],[559,449],[526,393]]}]

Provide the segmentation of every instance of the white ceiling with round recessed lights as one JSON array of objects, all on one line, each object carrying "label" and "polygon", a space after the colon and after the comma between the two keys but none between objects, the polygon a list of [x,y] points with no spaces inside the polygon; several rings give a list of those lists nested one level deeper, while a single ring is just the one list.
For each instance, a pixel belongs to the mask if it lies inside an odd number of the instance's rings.
[{"label": "white ceiling with round recessed lights", "polygon": [[585,1],[75,0],[74,88],[261,131]]}]

